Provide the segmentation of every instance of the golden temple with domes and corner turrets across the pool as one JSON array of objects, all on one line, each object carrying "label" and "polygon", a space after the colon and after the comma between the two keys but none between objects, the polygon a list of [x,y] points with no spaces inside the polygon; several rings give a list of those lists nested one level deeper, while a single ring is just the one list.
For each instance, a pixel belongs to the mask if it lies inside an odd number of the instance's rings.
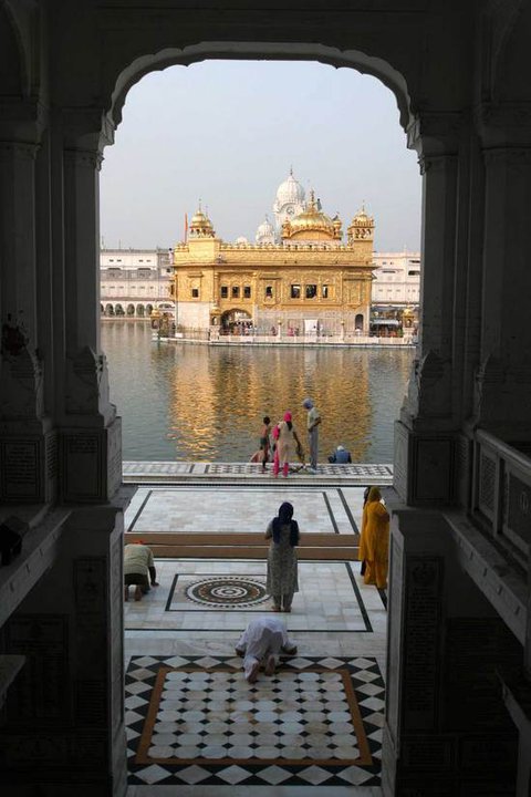
[{"label": "golden temple with domes and corner turrets across the pool", "polygon": [[374,220],[362,208],[343,244],[340,217],[323,213],[313,190],[305,204],[303,196],[291,174],[278,193],[277,234],[266,219],[257,245],[216,237],[199,205],[187,241],[174,249],[179,331],[269,334],[282,322],[284,334],[368,333]]}]

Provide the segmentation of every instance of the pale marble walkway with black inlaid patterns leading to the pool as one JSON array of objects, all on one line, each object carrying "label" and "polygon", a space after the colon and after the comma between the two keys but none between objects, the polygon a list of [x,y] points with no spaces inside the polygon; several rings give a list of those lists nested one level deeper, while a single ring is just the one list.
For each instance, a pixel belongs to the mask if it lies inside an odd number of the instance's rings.
[{"label": "pale marble walkway with black inlaid patterns leading to the pool", "polygon": [[[261,531],[283,500],[301,531],[360,527],[360,475],[262,486],[240,476],[140,484],[126,530],[146,541],[157,530]],[[379,796],[385,594],[363,583],[358,562],[300,561],[300,591],[281,615],[298,653],[254,685],[235,643],[270,611],[266,562],[240,558],[235,545],[229,559],[156,566],[159,587],[124,604],[128,797]]]}]

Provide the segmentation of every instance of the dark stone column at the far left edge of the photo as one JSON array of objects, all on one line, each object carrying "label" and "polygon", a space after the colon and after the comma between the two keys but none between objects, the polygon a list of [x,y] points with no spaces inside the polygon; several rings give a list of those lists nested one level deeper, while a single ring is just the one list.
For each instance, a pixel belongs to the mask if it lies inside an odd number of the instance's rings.
[{"label": "dark stone column at the far left edge of the photo", "polygon": [[39,350],[37,153],[32,142],[0,142],[0,501],[8,503],[44,503],[54,493],[56,438]]}]

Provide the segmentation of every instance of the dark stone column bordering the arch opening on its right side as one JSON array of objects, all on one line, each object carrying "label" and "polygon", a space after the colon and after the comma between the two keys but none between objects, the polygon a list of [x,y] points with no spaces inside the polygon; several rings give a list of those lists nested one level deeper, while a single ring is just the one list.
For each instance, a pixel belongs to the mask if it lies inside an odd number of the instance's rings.
[{"label": "dark stone column bordering the arch opening on its right side", "polygon": [[438,137],[420,125],[409,141],[423,176],[421,315],[408,395],[395,426],[395,488],[409,505],[448,503],[455,493],[459,142],[451,128],[459,120],[429,124],[440,127]]}]

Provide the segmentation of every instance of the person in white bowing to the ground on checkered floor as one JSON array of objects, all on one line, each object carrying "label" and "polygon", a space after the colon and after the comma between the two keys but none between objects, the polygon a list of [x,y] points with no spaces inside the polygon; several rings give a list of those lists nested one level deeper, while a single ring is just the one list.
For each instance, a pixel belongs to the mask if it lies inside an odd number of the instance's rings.
[{"label": "person in white bowing to the ground on checkered floor", "polygon": [[243,656],[246,680],[254,683],[262,664],[266,675],[273,675],[280,653],[292,655],[296,653],[296,645],[288,636],[280,618],[263,617],[251,620],[236,645],[236,652]]}]

